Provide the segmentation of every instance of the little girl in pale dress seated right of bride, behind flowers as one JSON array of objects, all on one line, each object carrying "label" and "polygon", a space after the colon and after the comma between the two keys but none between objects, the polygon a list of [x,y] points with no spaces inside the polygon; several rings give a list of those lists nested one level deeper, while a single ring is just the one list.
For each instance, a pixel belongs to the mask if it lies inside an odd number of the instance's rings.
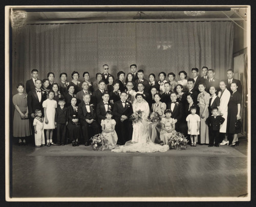
[{"label": "little girl in pale dress seated right of bride, behind flowers", "polygon": [[164,114],[165,117],[161,119],[162,129],[160,132],[160,139],[163,144],[168,144],[168,140],[173,136],[174,132],[176,132],[175,122],[173,118],[170,118],[170,116],[172,116],[172,111],[167,109]]}]

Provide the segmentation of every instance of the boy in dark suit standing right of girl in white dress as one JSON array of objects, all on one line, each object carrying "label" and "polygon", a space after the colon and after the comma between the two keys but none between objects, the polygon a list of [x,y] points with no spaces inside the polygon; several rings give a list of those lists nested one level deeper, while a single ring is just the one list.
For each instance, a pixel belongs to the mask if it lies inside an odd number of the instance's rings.
[{"label": "boy in dark suit standing right of girl in white dress", "polygon": [[[55,127],[57,127],[57,145],[65,145],[66,126],[68,125],[68,109],[64,107],[66,104],[64,98],[59,98],[58,107],[55,113]],[[49,140],[47,140],[49,141]],[[50,143],[47,143],[50,145]]]}]

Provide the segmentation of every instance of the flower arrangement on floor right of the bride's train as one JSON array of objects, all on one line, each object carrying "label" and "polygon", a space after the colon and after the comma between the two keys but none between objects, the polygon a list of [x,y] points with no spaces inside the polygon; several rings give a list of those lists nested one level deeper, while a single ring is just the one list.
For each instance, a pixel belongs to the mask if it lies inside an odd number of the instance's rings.
[{"label": "flower arrangement on floor right of the bride's train", "polygon": [[168,145],[170,149],[186,149],[188,140],[186,137],[180,133],[176,132],[172,137],[170,137]]}]

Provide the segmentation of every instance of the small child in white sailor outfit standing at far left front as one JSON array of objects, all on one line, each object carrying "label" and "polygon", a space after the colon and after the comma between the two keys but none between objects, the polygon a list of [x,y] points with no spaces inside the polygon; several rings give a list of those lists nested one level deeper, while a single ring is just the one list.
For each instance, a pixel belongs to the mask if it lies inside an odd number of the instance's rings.
[{"label": "small child in white sailor outfit standing at far left front", "polygon": [[45,133],[44,133],[44,118],[42,118],[42,112],[39,109],[35,110],[35,119],[33,122],[35,130],[35,146],[45,146]]}]

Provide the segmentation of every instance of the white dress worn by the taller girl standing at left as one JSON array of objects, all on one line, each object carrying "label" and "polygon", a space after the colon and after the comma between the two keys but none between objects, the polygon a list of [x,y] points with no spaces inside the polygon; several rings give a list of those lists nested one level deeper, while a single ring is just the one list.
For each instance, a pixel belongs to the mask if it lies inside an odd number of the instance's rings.
[{"label": "white dress worn by the taller girl standing at left", "polygon": [[48,119],[48,124],[46,124],[44,121],[44,129],[53,130],[55,128],[54,118],[57,108],[57,101],[54,99],[46,99],[44,102],[42,102],[42,107],[46,108],[46,115]]}]

